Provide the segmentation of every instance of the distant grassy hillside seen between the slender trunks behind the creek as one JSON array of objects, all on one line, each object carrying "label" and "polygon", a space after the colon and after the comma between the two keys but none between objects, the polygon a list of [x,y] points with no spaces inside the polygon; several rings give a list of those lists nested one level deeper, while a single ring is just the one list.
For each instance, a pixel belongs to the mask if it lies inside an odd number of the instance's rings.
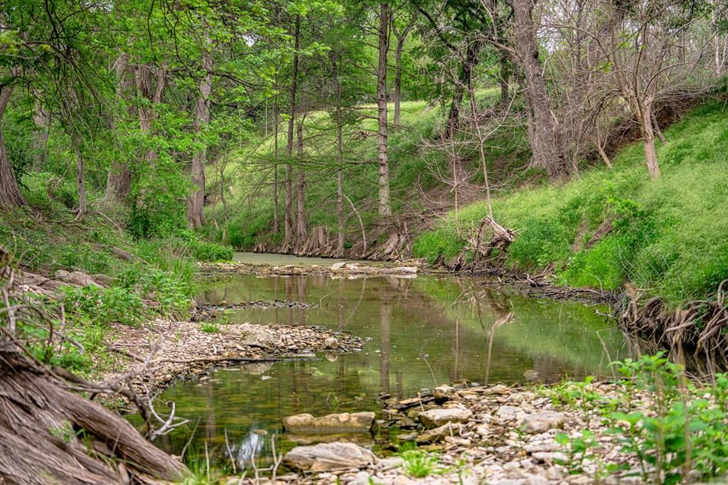
[{"label": "distant grassy hillside seen between the slender trunks behind the creek", "polygon": [[[499,100],[499,91],[482,90],[478,103],[485,109]],[[389,105],[390,122],[394,107]],[[443,127],[444,115],[439,106],[425,101],[403,102],[401,126],[389,130],[389,170],[392,210],[397,213],[421,213],[428,201],[421,197],[420,190],[435,192],[435,197],[451,199],[449,188],[438,179],[438,173],[449,175],[447,154],[432,146]],[[352,200],[367,227],[376,222],[377,212],[377,160],[376,160],[376,106],[363,105],[347,112],[344,129],[344,194]],[[304,121],[304,159],[294,160],[294,186],[296,170],[306,170],[306,210],[309,213],[309,228],[326,226],[336,231],[336,125],[330,113],[314,111],[306,114]],[[269,129],[270,130],[270,129]],[[282,123],[279,134],[279,210],[281,230],[272,234],[273,221],[273,136],[249,140],[242,147],[229,154],[225,170],[227,202],[230,218],[222,224],[223,207],[219,202],[219,181],[215,167],[208,167],[208,203],[206,217],[207,235],[216,240],[229,242],[236,248],[250,249],[258,242],[279,242],[282,239],[282,211],[284,207],[285,178],[285,136],[286,125]],[[506,127],[486,147],[488,157],[498,161],[499,167],[506,167],[510,175],[511,165],[523,164],[523,153],[527,143],[521,130]],[[429,144],[429,145],[428,145]],[[477,167],[475,146],[462,154],[466,165],[470,164],[475,176],[473,184],[482,180]],[[521,173],[523,178],[532,173]],[[515,181],[517,182],[517,181]],[[345,211],[347,220],[347,245],[360,237],[360,226],[348,202]],[[294,201],[295,205],[295,201]],[[223,238],[223,225],[226,225]]]}]

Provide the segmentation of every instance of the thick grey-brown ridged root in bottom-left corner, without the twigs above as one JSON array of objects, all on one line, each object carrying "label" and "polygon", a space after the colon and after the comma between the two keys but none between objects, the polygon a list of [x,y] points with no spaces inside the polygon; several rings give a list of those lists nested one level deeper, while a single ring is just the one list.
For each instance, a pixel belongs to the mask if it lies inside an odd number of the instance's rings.
[{"label": "thick grey-brown ridged root in bottom-left corner, without the twigs above", "polygon": [[[180,460],[119,414],[0,343],[0,477],[17,484],[127,484],[179,480]],[[69,390],[71,389],[71,390]]]}]

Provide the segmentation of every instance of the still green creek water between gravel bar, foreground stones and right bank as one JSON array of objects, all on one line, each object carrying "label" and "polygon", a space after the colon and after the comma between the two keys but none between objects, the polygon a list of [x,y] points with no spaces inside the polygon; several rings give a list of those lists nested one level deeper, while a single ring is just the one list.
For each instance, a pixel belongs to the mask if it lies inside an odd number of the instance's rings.
[{"label": "still green creek water between gravel bar, foreground stones and right bank", "polygon": [[241,309],[229,321],[322,325],[365,339],[362,352],[218,368],[207,382],[182,382],[162,395],[191,424],[159,446],[178,454],[196,428],[193,453],[206,442],[214,459],[232,454],[244,465],[251,457],[269,463],[272,437],[279,452],[295,445],[282,434],[289,414],[376,411],[380,393],[411,397],[459,379],[513,384],[604,375],[627,352],[614,322],[593,308],[502,293],[470,278],[232,275],[205,283],[197,299],[304,301],[317,307]]}]

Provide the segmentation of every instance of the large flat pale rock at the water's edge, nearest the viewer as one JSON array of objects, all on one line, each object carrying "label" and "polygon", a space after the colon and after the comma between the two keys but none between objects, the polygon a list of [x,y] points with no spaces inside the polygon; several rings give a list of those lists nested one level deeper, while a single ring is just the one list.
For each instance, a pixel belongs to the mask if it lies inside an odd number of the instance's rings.
[{"label": "large flat pale rock at the water's edge, nearest the viewer", "polygon": [[285,454],[283,461],[298,470],[326,471],[376,465],[379,459],[370,450],[354,443],[336,442],[296,446]]}]

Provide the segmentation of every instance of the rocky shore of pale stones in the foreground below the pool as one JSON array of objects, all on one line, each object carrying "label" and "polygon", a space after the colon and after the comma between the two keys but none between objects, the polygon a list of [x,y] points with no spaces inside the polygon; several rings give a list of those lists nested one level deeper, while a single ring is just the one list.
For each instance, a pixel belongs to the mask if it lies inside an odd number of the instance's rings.
[{"label": "rocky shore of pale stones in the foreground below the pool", "polygon": [[[588,393],[618,400],[619,383],[587,385]],[[622,452],[604,417],[572,404],[557,406],[549,387],[505,385],[441,386],[430,395],[383,400],[376,422],[399,434],[400,449],[373,453],[346,438],[297,446],[285,455],[288,472],[257,480],[230,478],[228,484],[493,484],[577,485],[641,484],[636,457]],[[637,406],[649,398],[637,392]],[[331,427],[351,423],[360,431],[363,417],[331,415],[289,418],[296,425]],[[311,430],[309,429],[309,432]],[[341,432],[341,428],[336,428]],[[356,431],[356,430],[355,430]],[[392,435],[390,432],[389,435]],[[352,435],[353,436],[353,435]],[[407,448],[405,441],[417,443]],[[585,450],[578,443],[587,441]],[[606,473],[607,466],[619,473]],[[420,476],[429,468],[427,476]],[[290,471],[293,470],[293,471]]]}]

